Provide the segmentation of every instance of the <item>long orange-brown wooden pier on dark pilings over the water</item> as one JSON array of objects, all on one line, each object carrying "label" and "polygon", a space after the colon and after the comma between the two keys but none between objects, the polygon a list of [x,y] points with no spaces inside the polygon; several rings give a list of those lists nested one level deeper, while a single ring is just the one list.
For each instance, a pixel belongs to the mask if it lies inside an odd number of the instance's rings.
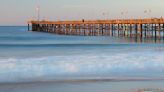
[{"label": "long orange-brown wooden pier on dark pilings over the water", "polygon": [[[32,28],[30,29],[30,26]],[[29,21],[28,30],[62,35],[123,36],[164,38],[164,18],[81,20],[81,21]]]}]

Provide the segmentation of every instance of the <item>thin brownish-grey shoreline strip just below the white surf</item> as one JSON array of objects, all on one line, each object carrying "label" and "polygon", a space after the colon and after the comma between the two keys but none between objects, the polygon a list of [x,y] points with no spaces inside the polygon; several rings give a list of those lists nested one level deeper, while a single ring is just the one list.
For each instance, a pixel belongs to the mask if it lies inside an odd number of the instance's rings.
[{"label": "thin brownish-grey shoreline strip just below the white surf", "polygon": [[[28,79],[27,79],[28,80]],[[99,78],[56,78],[56,79],[33,79],[31,81],[19,81],[19,82],[2,82],[0,85],[8,84],[40,84],[40,83],[96,83],[96,82],[152,82],[152,81],[164,81],[164,78],[144,78],[144,77],[99,77]]]}]

